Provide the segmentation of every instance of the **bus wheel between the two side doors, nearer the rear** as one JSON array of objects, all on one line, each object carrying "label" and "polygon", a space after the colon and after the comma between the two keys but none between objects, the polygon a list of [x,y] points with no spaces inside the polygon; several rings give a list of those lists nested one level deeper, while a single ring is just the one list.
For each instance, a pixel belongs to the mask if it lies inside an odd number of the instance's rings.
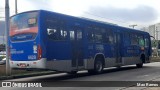
[{"label": "bus wheel between the two side doors, nearer the rear", "polygon": [[101,58],[97,58],[97,60],[95,61],[94,64],[94,72],[95,73],[102,73],[103,72],[103,62],[101,60]]}]

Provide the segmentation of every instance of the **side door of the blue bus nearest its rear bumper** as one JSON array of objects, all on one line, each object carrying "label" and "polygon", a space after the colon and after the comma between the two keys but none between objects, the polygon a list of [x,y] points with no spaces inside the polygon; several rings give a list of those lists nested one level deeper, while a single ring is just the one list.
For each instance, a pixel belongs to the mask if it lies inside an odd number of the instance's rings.
[{"label": "side door of the blue bus nearest its rear bumper", "polygon": [[71,56],[72,56],[72,67],[73,69],[80,69],[83,64],[83,43],[82,43],[82,28],[74,27],[70,31],[71,39]]}]

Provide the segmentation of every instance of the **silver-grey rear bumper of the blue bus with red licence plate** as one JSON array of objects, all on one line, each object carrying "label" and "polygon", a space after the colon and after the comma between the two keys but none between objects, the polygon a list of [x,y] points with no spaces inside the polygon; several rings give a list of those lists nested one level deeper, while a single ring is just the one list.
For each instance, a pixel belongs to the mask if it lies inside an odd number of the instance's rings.
[{"label": "silver-grey rear bumper of the blue bus with red licence plate", "polygon": [[42,58],[35,61],[12,61],[10,66],[13,69],[46,69],[46,59]]}]

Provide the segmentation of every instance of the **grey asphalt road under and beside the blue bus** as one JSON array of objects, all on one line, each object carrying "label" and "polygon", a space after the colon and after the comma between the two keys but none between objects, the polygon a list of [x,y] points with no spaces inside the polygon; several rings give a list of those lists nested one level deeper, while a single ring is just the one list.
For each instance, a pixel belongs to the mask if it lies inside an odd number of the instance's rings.
[{"label": "grey asphalt road under and beside the blue bus", "polygon": [[[66,73],[27,77],[12,79],[9,81],[160,81],[160,62],[145,64],[143,68],[137,68],[135,65],[125,66],[120,69],[109,68],[99,75],[90,75],[86,71],[80,71],[77,75],[68,75]],[[96,83],[102,84],[102,83]],[[26,88],[23,88],[24,90]],[[45,88],[36,88],[37,90]],[[151,87],[54,87],[47,90],[160,90],[160,88]],[[1,88],[0,88],[1,90]],[[4,90],[20,90],[18,88],[5,88]],[[22,90],[22,88],[21,88]],[[26,89],[27,90],[27,89]],[[32,89],[31,89],[32,90]],[[34,89],[35,90],[35,89]]]}]

